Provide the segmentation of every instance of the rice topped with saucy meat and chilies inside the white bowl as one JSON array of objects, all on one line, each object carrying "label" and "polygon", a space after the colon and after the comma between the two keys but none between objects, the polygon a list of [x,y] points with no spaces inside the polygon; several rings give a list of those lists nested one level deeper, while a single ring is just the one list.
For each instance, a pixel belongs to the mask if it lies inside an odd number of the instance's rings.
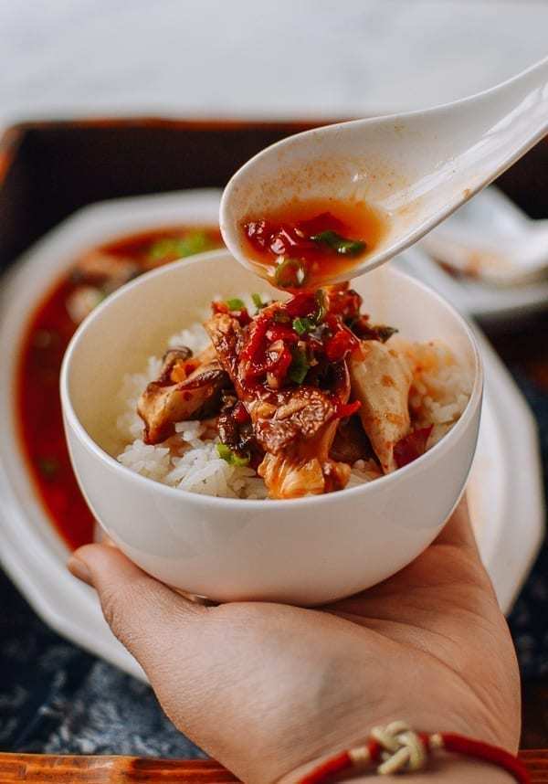
[{"label": "rice topped with saucy meat and chilies inside the white bowl", "polygon": [[415,461],[458,420],[473,379],[448,345],[406,341],[362,305],[349,284],[212,302],[203,325],[124,378],[118,460],[250,499],[331,493]]}]

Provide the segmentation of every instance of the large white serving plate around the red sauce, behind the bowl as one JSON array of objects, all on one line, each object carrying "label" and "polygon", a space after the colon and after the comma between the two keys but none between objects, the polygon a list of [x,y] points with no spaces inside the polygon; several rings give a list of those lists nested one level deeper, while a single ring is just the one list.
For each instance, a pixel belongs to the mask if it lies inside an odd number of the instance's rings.
[{"label": "large white serving plate around the red sauce, behind the bowl", "polygon": [[[34,492],[16,436],[14,369],[27,314],[80,250],[170,223],[215,223],[219,194],[188,191],[86,207],[49,232],[3,279],[0,297],[0,559],[37,613],[60,634],[143,678],[113,637],[95,593],[68,574],[68,548]],[[413,269],[423,254],[398,260]],[[511,376],[478,334],[486,375],[479,446],[469,503],[479,548],[502,609],[511,609],[543,537],[543,488],[536,425]],[[516,466],[520,470],[516,471]]]}]

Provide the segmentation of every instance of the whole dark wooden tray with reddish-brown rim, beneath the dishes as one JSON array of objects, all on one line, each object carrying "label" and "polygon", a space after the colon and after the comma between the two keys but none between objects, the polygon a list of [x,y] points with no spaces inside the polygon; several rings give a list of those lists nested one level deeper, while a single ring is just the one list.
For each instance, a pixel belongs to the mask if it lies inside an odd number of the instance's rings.
[{"label": "whole dark wooden tray with reddish-brown rim, beneath the dishes", "polygon": [[[0,140],[0,270],[79,207],[120,196],[222,187],[238,166],[263,147],[317,124],[136,118],[16,125]],[[497,185],[531,217],[548,217],[548,140],[514,164]],[[514,323],[503,324],[490,337],[503,359],[518,362],[529,375],[545,378],[548,388],[546,316],[520,322],[518,330]],[[526,684],[525,748],[548,747],[547,699],[548,679]],[[534,772],[533,781],[548,782],[548,752],[524,752],[524,756]],[[50,760],[0,755],[0,780],[45,780],[47,774],[40,773],[40,769],[51,765]],[[79,780],[75,758],[58,760],[56,781]],[[83,760],[80,758],[81,765]],[[104,770],[111,764],[108,760],[101,761]],[[60,779],[63,766],[72,773]],[[213,763],[141,760],[132,766],[134,772],[141,771],[139,780],[233,780]],[[165,775],[160,775],[161,769]],[[19,779],[16,770],[20,771]],[[154,771],[152,779],[145,778],[145,770]],[[105,780],[137,780],[127,778],[127,771],[124,775],[125,779],[105,779],[97,773],[86,780],[98,784]]]}]

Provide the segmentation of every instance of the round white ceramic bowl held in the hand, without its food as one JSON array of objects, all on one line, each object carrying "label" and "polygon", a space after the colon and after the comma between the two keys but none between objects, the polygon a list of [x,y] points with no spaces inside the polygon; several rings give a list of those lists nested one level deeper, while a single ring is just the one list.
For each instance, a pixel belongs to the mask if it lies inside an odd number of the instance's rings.
[{"label": "round white ceramic bowl held in the hand, without its food", "polygon": [[257,278],[227,251],[142,276],[80,326],[61,373],[71,458],[93,513],[142,569],[219,601],[312,605],[389,577],[440,531],[463,492],[478,436],[482,370],[474,338],[447,302],[390,266],[353,285],[375,320],[412,340],[449,344],[474,376],[472,394],[453,429],[417,461],[370,484],[294,501],[186,493],[112,457],[120,448],[113,423],[122,376],[162,355],[167,338],[200,319],[214,295],[257,291]]}]

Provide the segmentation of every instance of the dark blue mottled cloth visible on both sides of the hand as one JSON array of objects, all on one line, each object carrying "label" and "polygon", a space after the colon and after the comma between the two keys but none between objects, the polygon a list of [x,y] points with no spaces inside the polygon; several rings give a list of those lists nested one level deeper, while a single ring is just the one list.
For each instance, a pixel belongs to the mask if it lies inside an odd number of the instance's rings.
[{"label": "dark blue mottled cloth visible on both sides of the hand", "polygon": [[[514,375],[539,423],[548,487],[548,394]],[[510,623],[523,677],[548,674],[548,546]],[[1,573],[0,750],[200,756],[148,686],[58,637]]]}]

